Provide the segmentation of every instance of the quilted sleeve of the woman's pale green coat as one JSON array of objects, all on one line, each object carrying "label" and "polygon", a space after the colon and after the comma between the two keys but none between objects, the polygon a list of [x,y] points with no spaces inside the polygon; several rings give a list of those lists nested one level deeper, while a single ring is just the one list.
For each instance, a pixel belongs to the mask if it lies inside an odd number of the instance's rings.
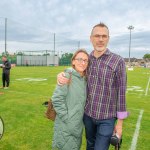
[{"label": "quilted sleeve of the woman's pale green coat", "polygon": [[64,122],[68,120],[68,109],[66,104],[67,93],[68,93],[68,85],[63,86],[57,85],[51,98],[56,114]]}]

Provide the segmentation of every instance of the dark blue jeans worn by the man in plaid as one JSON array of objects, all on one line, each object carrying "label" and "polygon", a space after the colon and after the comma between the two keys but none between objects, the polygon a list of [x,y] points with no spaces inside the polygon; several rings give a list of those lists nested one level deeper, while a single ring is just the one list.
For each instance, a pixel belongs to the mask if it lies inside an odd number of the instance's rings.
[{"label": "dark blue jeans worn by the man in plaid", "polygon": [[87,140],[86,150],[108,150],[116,118],[96,120],[84,114],[83,121]]}]

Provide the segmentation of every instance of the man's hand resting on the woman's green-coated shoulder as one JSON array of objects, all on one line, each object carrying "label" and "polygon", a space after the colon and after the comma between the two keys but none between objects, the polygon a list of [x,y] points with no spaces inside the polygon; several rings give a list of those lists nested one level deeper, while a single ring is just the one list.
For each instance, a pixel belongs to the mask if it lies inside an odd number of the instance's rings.
[{"label": "man's hand resting on the woman's green-coated shoulder", "polygon": [[67,84],[69,83],[69,79],[67,79],[65,77],[65,73],[64,72],[61,72],[57,75],[57,84],[58,85],[64,85],[64,84]]}]

